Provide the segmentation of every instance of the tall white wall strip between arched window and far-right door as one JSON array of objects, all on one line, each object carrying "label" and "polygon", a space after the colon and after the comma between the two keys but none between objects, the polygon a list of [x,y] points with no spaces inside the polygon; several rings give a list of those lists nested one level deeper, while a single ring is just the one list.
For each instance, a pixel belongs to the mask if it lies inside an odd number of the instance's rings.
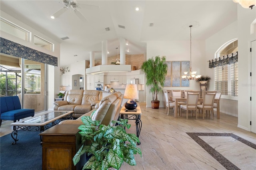
[{"label": "tall white wall strip between arched window and far-right door", "polygon": [[255,33],[250,34],[250,24],[255,18],[256,8],[251,10],[238,5],[238,127],[249,131],[251,130],[250,42],[256,40]]}]

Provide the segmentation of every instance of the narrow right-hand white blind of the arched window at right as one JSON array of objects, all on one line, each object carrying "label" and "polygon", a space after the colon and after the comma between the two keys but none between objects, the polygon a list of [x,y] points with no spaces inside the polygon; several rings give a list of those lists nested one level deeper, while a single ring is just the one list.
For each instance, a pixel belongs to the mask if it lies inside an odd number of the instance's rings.
[{"label": "narrow right-hand white blind of the arched window at right", "polygon": [[238,62],[230,65],[231,95],[238,96]]}]

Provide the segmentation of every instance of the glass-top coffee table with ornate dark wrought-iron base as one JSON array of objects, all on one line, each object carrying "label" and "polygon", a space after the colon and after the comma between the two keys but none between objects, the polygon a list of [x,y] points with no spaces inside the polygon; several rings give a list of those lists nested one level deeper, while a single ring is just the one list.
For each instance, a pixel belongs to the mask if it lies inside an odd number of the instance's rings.
[{"label": "glass-top coffee table with ornate dark wrought-iron base", "polygon": [[28,117],[22,121],[12,123],[11,125],[13,125],[13,131],[11,136],[14,139],[12,144],[16,144],[18,141],[18,131],[26,130],[43,132],[54,125],[57,125],[61,121],[73,119],[72,113],[74,113],[74,111],[44,111],[36,114],[34,117]]}]

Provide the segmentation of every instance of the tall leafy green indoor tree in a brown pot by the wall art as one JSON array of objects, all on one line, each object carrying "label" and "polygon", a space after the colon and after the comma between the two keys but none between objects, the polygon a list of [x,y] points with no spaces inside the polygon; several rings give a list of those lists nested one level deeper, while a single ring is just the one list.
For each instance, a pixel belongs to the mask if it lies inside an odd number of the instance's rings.
[{"label": "tall leafy green indoor tree in a brown pot by the wall art", "polygon": [[146,85],[151,86],[150,92],[152,93],[152,108],[158,109],[160,101],[157,98],[158,92],[162,91],[164,86],[165,76],[167,74],[168,66],[166,64],[166,57],[156,56],[147,61],[144,61],[140,69],[145,73]]}]

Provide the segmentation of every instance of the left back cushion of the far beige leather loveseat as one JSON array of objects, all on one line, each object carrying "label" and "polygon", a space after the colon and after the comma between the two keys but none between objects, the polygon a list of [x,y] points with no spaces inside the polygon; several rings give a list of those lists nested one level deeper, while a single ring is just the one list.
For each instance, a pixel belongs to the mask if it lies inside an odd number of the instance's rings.
[{"label": "left back cushion of the far beige leather loveseat", "polygon": [[68,105],[81,105],[84,90],[70,90],[65,95]]}]

